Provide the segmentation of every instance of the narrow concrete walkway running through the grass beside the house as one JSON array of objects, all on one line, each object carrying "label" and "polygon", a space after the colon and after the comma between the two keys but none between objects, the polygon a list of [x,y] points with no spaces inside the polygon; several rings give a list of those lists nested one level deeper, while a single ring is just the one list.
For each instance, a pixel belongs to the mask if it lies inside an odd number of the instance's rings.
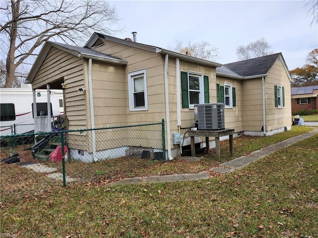
[{"label": "narrow concrete walkway running through the grass beside the house", "polygon": [[[218,173],[229,173],[236,169],[242,168],[260,158],[263,158],[281,148],[287,147],[289,145],[295,144],[298,141],[305,140],[318,133],[318,128],[314,129],[308,133],[292,137],[290,139],[284,140],[282,142],[267,146],[258,151],[252,152],[250,155],[241,156],[229,162],[223,163],[220,167],[212,168],[210,171]],[[182,180],[199,180],[199,179],[208,179],[209,173],[203,171],[198,174],[185,174],[185,175],[166,175],[166,176],[154,176],[154,177],[140,177],[133,179],[123,179],[108,183],[107,185],[118,185],[118,184],[138,184],[146,182],[173,182],[173,181],[182,181]]]}]

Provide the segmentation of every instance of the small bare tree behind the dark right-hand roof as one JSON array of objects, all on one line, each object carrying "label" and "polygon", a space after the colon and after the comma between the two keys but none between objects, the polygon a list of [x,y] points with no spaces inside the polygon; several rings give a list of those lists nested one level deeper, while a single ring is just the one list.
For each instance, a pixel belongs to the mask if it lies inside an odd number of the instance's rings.
[{"label": "small bare tree behind the dark right-hand roof", "polygon": [[246,46],[237,47],[237,56],[239,60],[248,60],[252,58],[267,56],[272,54],[269,51],[271,46],[265,40],[265,38],[260,38],[254,42],[248,43]]}]

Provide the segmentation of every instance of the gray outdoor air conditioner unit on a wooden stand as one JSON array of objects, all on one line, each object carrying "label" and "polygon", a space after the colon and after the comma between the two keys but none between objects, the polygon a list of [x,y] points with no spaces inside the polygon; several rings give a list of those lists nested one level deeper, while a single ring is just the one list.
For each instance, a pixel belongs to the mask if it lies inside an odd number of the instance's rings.
[{"label": "gray outdoor air conditioner unit on a wooden stand", "polygon": [[225,129],[223,103],[197,104],[195,107],[198,130]]}]

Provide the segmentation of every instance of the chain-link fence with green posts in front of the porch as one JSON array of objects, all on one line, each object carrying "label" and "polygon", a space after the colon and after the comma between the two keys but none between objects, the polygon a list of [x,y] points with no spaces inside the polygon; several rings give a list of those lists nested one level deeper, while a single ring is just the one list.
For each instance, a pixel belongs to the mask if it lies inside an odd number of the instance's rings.
[{"label": "chain-link fence with green posts in front of the porch", "polygon": [[136,177],[165,160],[164,121],[0,136],[1,196]]}]

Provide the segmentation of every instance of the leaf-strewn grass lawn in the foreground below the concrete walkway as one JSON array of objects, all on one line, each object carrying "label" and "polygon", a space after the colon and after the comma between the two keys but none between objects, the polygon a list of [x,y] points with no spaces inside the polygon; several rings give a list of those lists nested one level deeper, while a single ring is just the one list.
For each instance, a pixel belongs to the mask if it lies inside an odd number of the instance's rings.
[{"label": "leaf-strewn grass lawn in the foreground below the concrete walkway", "polygon": [[[238,143],[236,153],[238,147],[253,150],[261,144],[254,138]],[[315,238],[317,148],[316,134],[240,170],[200,181],[58,187],[14,202],[1,195],[0,232],[61,238]]]}]

